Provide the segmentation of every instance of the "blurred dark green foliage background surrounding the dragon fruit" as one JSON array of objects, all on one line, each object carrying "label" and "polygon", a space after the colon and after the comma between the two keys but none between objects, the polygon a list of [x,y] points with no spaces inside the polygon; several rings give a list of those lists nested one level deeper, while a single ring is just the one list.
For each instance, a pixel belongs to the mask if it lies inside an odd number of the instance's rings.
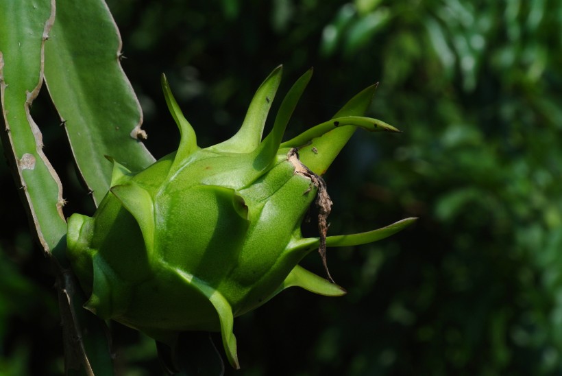
[{"label": "blurred dark green foliage background surrounding the dragon fruit", "polygon": [[[330,233],[421,220],[382,242],[329,252],[345,298],[289,290],[236,319],[244,375],[562,373],[562,0],[108,5],[157,157],[179,139],[162,72],[201,145],[230,137],[279,63],[286,85],[315,67],[287,137],[376,81],[369,115],[404,130],[358,132],[344,149],[326,176]],[[49,111],[40,115],[48,123]],[[45,136],[46,153],[70,181],[58,131]],[[91,211],[86,192],[65,197],[69,213]],[[18,204],[2,202],[1,213],[22,211]],[[25,367],[33,341],[45,338],[37,321],[56,320],[29,308],[52,309],[53,294],[45,274],[29,272],[41,257],[16,257],[30,251],[18,246],[25,219],[14,215],[1,242],[10,257],[0,273],[0,371]],[[304,262],[321,271],[319,257]],[[19,340],[14,327],[25,328]],[[115,330],[121,374],[154,374],[148,342]],[[34,362],[52,365],[53,346]]]}]

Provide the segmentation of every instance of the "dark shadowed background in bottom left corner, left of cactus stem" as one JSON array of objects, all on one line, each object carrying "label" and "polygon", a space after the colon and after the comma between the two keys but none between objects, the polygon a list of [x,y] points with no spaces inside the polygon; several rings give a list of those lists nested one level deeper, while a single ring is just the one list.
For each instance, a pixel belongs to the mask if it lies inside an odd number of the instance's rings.
[{"label": "dark shadowed background in bottom left corner, left of cactus stem", "polygon": [[0,176],[0,375],[60,374],[62,336],[54,279],[29,235],[5,163],[0,163]]}]

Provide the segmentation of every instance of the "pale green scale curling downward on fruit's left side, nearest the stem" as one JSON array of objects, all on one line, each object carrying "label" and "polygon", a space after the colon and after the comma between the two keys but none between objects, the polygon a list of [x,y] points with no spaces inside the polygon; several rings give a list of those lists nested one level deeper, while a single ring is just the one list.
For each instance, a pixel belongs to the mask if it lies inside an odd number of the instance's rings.
[{"label": "pale green scale curling downward on fruit's left side, nearest the stem", "polygon": [[[143,233],[148,254],[154,255],[154,233],[156,229],[154,224],[154,203],[150,194],[145,189],[132,183],[111,187],[110,192],[133,215],[140,227],[140,232]],[[126,235],[123,234],[123,236]]]}]

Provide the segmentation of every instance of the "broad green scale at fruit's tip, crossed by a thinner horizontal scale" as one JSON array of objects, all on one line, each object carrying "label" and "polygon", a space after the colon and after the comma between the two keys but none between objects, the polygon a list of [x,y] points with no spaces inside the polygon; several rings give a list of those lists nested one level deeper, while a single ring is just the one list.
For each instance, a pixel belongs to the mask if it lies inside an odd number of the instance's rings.
[{"label": "broad green scale at fruit's tip, crossed by a thinner horizontal scale", "polygon": [[[371,104],[376,87],[377,84],[371,85],[355,95],[334,117],[364,115]],[[323,134],[321,137],[313,139],[310,148],[300,150],[301,162],[315,174],[323,175],[343,146],[350,140],[355,130],[356,128],[354,127],[337,128]]]}]

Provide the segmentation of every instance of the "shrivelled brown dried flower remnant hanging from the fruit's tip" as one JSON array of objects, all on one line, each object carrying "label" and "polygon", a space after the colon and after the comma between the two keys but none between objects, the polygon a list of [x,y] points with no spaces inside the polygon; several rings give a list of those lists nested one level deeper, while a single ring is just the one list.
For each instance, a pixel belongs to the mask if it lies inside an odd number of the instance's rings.
[{"label": "shrivelled brown dried flower remnant hanging from the fruit's tip", "polygon": [[[328,187],[321,176],[310,171],[310,169],[300,161],[297,148],[291,148],[291,150],[289,150],[289,153],[287,153],[287,161],[295,166],[295,174],[309,178],[310,183],[318,189],[315,201],[316,207],[318,208],[318,232],[320,233],[318,252],[328,279],[330,282],[335,283],[330,275],[328,262],[326,261],[326,234],[328,233],[328,227],[330,227],[330,224],[328,224],[328,215],[330,215],[332,211],[332,200],[330,199],[330,195],[328,195]],[[309,191],[310,188],[304,193],[308,193]]]}]

